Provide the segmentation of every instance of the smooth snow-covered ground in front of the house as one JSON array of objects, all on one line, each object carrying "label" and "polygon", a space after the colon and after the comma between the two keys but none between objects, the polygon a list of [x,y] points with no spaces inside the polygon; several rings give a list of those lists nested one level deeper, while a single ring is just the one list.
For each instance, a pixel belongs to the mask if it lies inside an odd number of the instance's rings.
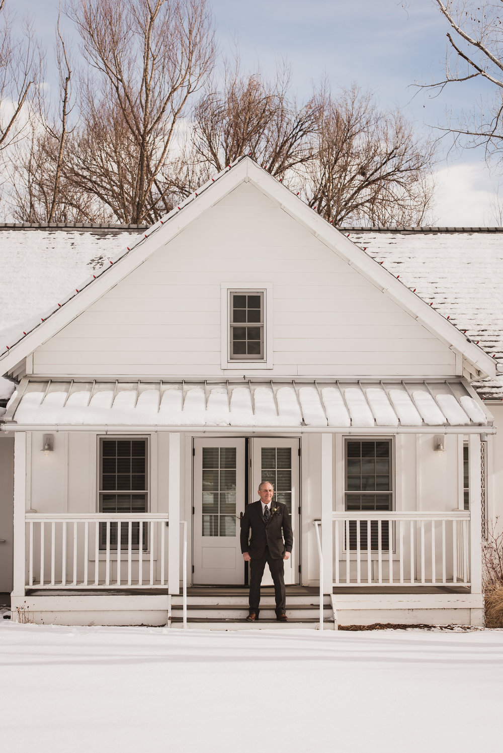
[{"label": "smooth snow-covered ground in front of the house", "polygon": [[501,749],[503,631],[0,623],[11,751]]}]

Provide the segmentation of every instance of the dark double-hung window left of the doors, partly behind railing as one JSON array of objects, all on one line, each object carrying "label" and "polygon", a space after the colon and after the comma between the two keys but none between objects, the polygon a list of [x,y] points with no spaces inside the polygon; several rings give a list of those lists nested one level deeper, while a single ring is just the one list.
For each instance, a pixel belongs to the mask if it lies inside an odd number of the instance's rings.
[{"label": "dark double-hung window left of the doors, partly behind railing", "polygon": [[[134,519],[148,511],[148,440],[134,439],[99,440],[99,512],[106,514],[130,514]],[[142,526],[142,550],[148,548],[147,526]],[[139,549],[140,523],[133,520],[131,543]],[[127,549],[129,523],[120,526],[120,548]],[[107,523],[100,524],[99,547],[106,548]],[[110,547],[117,549],[117,523],[110,524]]]}]

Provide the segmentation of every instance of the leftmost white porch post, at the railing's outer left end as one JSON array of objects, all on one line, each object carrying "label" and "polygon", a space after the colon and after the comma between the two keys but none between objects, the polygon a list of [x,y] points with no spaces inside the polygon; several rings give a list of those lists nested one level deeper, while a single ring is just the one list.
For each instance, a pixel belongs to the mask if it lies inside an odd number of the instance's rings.
[{"label": "leftmost white porch post, at the railing's outer left end", "polygon": [[24,596],[26,587],[26,434],[14,434],[14,562],[12,596]]}]

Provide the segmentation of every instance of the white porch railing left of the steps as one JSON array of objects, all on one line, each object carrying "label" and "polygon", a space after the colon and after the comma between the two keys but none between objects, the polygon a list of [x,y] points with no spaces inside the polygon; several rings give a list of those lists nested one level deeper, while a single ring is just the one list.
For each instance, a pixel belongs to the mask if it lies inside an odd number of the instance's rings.
[{"label": "white porch railing left of the steps", "polygon": [[26,514],[26,587],[166,588],[166,514]]}]

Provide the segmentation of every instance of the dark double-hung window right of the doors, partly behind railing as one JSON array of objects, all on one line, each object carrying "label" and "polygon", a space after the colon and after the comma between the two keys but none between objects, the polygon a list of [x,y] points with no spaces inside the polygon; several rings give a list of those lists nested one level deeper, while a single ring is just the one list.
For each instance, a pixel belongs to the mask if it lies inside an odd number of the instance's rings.
[{"label": "dark double-hung window right of the doors, partly behind railing", "polygon": [[[391,439],[346,439],[346,510],[389,511],[393,509],[392,441]],[[370,515],[369,515],[370,517]],[[370,529],[370,541],[369,539]],[[380,531],[380,535],[379,535]],[[359,524],[360,549],[388,551],[392,532],[387,520],[361,520]],[[358,543],[358,521],[349,521],[350,550]]]}]

